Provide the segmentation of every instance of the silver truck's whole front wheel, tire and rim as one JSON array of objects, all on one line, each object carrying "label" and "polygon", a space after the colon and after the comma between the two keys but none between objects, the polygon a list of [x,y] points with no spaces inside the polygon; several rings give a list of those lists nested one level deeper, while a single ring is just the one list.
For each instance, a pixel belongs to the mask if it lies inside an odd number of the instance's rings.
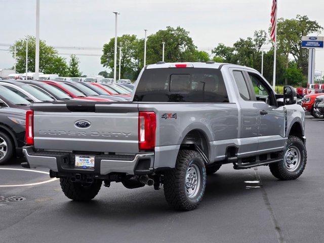
[{"label": "silver truck's whole front wheel, tire and rim", "polygon": [[307,151],[303,141],[298,137],[290,136],[282,157],[282,161],[269,165],[272,175],[280,180],[295,180],[300,177],[307,161]]}]

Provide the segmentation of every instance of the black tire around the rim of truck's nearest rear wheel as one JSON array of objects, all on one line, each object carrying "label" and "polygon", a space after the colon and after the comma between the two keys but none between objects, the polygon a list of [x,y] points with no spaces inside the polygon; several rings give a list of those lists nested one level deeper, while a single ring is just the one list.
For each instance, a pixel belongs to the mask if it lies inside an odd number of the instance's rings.
[{"label": "black tire around the rim of truck's nearest rear wheel", "polygon": [[[199,189],[195,197],[189,198],[186,193],[186,172],[193,164],[199,168]],[[196,209],[205,193],[206,177],[203,157],[194,150],[180,150],[175,168],[164,173],[164,194],[168,204],[176,210]]]}]

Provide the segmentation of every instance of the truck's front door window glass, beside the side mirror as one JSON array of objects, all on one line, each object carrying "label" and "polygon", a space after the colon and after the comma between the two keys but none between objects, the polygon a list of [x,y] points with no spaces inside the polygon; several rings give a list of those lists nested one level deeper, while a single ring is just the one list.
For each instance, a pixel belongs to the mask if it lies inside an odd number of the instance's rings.
[{"label": "truck's front door window glass, beside the side mirror", "polygon": [[269,105],[273,105],[272,93],[269,90],[269,87],[264,84],[264,81],[258,74],[249,72],[250,79],[253,85],[253,91],[257,100],[264,101]]}]

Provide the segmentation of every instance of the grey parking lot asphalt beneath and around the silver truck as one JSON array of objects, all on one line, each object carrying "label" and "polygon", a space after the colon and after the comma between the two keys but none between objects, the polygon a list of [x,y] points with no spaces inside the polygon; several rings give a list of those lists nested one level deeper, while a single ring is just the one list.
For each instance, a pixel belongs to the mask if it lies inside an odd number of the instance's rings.
[{"label": "grey parking lot asphalt beneath and around the silver truck", "polygon": [[76,203],[58,180],[43,183],[47,174],[3,170],[23,169],[24,159],[14,159],[0,167],[0,198],[23,200],[0,201],[0,242],[323,242],[323,123],[306,116],[308,159],[299,179],[279,181],[268,167],[224,165],[208,176],[204,199],[190,212],[171,209],[163,189],[121,183]]}]

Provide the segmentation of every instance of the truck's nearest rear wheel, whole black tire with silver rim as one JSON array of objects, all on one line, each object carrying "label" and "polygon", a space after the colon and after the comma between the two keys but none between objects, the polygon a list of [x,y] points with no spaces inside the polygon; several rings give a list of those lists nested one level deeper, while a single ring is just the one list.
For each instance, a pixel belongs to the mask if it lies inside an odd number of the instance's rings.
[{"label": "truck's nearest rear wheel, whole black tire with silver rim", "polygon": [[194,150],[180,150],[176,167],[164,174],[164,194],[168,204],[177,210],[194,210],[203,199],[205,188],[203,158]]}]

